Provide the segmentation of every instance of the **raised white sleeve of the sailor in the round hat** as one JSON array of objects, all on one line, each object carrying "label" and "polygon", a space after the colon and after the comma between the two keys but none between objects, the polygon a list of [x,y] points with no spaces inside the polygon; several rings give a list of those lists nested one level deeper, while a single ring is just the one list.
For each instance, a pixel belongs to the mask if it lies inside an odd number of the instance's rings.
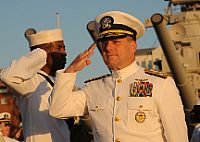
[{"label": "raised white sleeve of the sailor in the round hat", "polygon": [[10,66],[1,71],[0,79],[19,94],[26,95],[30,89],[34,89],[30,79],[46,64],[46,57],[44,50],[35,49],[19,60],[12,61]]}]

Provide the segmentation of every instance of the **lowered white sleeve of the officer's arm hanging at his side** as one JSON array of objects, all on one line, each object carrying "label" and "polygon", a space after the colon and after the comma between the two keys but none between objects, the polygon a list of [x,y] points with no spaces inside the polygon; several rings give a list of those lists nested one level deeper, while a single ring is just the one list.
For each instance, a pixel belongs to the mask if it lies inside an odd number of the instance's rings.
[{"label": "lowered white sleeve of the officer's arm hanging at his side", "polygon": [[162,86],[158,105],[167,142],[188,142],[183,105],[172,78]]}]

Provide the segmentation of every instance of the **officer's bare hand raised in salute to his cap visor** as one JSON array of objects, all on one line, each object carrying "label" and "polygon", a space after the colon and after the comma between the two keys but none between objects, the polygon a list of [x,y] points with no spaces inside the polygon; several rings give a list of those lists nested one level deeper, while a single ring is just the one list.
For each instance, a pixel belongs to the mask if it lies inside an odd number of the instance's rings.
[{"label": "officer's bare hand raised in salute to his cap visor", "polygon": [[96,44],[93,43],[87,50],[80,53],[74,61],[66,68],[64,72],[66,73],[72,73],[81,71],[84,67],[91,64],[91,61],[89,60],[89,57],[94,53],[94,48],[96,47]]}]

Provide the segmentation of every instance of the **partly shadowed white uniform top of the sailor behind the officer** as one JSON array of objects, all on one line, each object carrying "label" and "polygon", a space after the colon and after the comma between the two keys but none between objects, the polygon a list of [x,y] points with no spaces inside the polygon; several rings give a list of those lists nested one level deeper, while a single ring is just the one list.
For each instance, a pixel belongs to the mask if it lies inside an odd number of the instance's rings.
[{"label": "partly shadowed white uniform top of the sailor behind the officer", "polygon": [[64,120],[48,114],[53,87],[37,74],[45,74],[39,70],[46,64],[46,56],[45,51],[36,49],[13,61],[0,77],[17,92],[26,142],[69,142],[69,129]]}]

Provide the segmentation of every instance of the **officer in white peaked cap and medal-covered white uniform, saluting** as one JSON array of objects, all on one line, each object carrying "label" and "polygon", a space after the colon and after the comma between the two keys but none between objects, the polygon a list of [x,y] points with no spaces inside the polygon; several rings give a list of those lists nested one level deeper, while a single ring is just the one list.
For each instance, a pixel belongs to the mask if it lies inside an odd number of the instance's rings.
[{"label": "officer in white peaked cap and medal-covered white uniform, saluting", "polygon": [[95,45],[56,74],[49,113],[56,118],[89,114],[94,142],[188,142],[183,105],[171,77],[157,77],[135,62],[143,24],[120,11],[102,13],[99,42],[111,75],[72,91],[76,74],[91,61]]}]

